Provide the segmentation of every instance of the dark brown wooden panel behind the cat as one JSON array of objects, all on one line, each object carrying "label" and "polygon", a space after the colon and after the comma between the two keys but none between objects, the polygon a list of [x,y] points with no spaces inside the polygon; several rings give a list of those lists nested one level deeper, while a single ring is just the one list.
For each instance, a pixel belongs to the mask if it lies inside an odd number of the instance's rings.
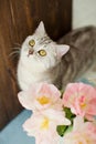
[{"label": "dark brown wooden panel behind the cat", "polygon": [[21,110],[17,93],[17,56],[9,56],[43,20],[57,40],[71,30],[72,0],[0,0],[0,128]]}]

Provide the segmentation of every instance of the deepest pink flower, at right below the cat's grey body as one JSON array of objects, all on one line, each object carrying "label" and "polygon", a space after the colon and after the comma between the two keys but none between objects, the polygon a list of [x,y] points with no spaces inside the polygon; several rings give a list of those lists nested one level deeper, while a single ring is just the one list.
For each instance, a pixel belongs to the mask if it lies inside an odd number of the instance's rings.
[{"label": "deepest pink flower, at right below the cat's grey body", "polygon": [[96,89],[84,83],[71,83],[63,94],[63,104],[74,114],[93,120],[96,115]]}]

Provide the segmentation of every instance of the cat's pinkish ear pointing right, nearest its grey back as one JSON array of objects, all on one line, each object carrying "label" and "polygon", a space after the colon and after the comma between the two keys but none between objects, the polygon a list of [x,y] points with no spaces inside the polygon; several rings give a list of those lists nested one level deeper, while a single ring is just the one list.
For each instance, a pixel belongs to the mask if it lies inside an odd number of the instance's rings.
[{"label": "cat's pinkish ear pointing right, nearest its grey back", "polygon": [[70,50],[70,45],[58,44],[56,45],[57,56],[62,58]]}]

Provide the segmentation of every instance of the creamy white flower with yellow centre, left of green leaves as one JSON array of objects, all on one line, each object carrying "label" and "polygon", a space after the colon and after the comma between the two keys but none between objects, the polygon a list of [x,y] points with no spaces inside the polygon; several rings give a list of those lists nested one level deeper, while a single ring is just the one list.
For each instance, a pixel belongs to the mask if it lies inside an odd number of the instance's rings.
[{"label": "creamy white flower with yellow centre, left of green leaves", "polygon": [[28,135],[35,136],[36,144],[57,144],[60,135],[56,132],[57,125],[70,125],[63,111],[52,109],[33,113],[23,124]]}]

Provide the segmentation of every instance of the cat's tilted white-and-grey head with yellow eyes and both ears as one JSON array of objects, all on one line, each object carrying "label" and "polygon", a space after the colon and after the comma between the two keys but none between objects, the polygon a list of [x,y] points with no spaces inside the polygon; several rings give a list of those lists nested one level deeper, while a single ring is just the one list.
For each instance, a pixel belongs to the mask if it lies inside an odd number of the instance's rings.
[{"label": "cat's tilted white-and-grey head with yellow eyes and both ears", "polygon": [[28,37],[22,44],[20,60],[29,66],[50,69],[55,66],[70,50],[68,45],[56,44],[52,41],[41,21],[35,32]]}]

